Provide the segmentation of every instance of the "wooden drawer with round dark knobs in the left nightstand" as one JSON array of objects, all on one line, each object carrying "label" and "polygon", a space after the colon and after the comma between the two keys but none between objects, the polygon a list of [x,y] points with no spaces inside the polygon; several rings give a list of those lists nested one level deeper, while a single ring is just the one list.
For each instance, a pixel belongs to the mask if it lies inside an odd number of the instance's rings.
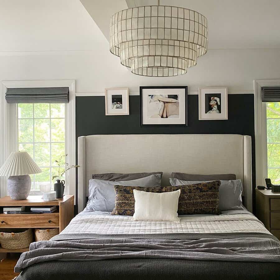
[{"label": "wooden drawer with round dark knobs in the left nightstand", "polygon": [[9,227],[59,227],[59,213],[0,215],[0,229]]}]

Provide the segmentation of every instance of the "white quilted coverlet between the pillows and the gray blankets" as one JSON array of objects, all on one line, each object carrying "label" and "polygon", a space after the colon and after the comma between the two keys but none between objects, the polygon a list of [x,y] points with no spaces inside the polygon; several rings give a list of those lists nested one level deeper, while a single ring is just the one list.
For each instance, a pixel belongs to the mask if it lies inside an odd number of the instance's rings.
[{"label": "white quilted coverlet between the pillows and the gray blankets", "polygon": [[77,215],[61,232],[66,233],[229,233],[270,232],[255,216],[247,214],[180,217],[180,222],[133,221],[132,216]]}]

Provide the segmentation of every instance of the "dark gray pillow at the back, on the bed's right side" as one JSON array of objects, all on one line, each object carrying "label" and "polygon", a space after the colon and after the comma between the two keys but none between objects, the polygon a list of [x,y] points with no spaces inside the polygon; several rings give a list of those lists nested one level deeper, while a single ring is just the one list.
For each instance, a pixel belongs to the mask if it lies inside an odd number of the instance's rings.
[{"label": "dark gray pillow at the back, on the bed's right side", "polygon": [[172,172],[171,178],[184,181],[213,181],[213,180],[236,180],[235,174],[213,174],[213,175],[194,175],[180,172]]}]

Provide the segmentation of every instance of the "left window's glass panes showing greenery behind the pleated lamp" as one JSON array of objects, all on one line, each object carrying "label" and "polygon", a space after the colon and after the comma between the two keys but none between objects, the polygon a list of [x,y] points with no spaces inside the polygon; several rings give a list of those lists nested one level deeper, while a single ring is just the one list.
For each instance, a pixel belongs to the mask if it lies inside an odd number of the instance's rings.
[{"label": "left window's glass panes showing greenery behind the pleated lamp", "polygon": [[40,191],[42,183],[52,184],[55,160],[65,154],[65,104],[17,104],[17,148],[28,152],[43,171],[30,175],[31,192]]}]

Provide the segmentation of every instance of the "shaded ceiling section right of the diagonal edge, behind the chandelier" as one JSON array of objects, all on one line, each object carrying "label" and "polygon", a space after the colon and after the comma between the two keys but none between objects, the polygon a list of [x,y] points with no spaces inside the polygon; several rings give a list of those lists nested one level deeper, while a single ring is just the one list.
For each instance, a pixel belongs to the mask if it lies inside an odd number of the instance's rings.
[{"label": "shaded ceiling section right of the diagonal edge, behind the chandelier", "polygon": [[[81,0],[105,37],[110,16],[157,0]],[[160,5],[189,8],[208,19],[209,49],[280,48],[279,0],[161,0]]]}]

